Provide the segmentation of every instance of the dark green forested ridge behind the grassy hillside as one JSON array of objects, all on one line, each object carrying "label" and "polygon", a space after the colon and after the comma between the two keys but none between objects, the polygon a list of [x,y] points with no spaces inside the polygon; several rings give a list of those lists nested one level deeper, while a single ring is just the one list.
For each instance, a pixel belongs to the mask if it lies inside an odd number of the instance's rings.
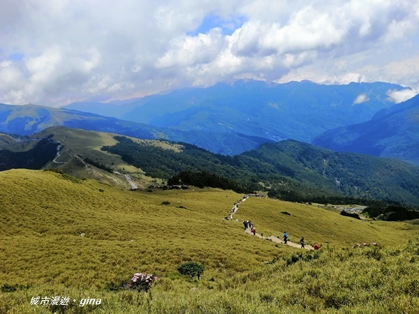
[{"label": "dark green forested ridge behind the grassy hillside", "polygon": [[381,208],[419,203],[419,168],[399,160],[336,153],[294,140],[225,156],[185,143],[178,143],[183,149],[176,152],[122,136],[115,139],[115,146],[102,149],[122,156],[151,177],[172,182],[182,179],[184,184],[240,193],[260,190],[293,202],[366,206],[382,202]]}]

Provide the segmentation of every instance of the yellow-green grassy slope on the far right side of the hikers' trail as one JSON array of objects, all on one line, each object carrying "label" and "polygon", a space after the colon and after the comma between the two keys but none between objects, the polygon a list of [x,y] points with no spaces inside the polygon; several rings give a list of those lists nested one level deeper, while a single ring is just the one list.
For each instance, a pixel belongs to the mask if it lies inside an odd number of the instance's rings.
[{"label": "yellow-green grassy slope on the far right side of the hikers' trail", "polygon": [[[291,216],[281,214],[281,211]],[[316,205],[279,200],[247,200],[240,205],[235,218],[246,220],[247,217],[251,217],[258,232],[266,236],[281,237],[282,232],[286,231],[291,241],[298,242],[300,237],[304,237],[309,244],[353,246],[357,243],[378,242],[382,245],[395,245],[419,235],[416,225],[358,220]]]}]

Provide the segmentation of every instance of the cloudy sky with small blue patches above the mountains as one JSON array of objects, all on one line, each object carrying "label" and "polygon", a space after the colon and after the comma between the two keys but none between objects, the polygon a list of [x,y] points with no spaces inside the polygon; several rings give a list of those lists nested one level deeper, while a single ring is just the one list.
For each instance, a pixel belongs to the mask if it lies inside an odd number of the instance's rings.
[{"label": "cloudy sky with small blue patches above the mountains", "polygon": [[240,79],[419,92],[419,0],[1,0],[0,103],[59,107]]}]

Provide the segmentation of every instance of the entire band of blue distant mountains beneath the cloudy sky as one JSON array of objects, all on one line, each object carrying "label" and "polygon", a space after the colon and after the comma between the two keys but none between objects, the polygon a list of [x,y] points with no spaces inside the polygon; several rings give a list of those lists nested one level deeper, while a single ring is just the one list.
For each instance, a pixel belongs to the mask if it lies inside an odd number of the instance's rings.
[{"label": "entire band of blue distant mountains beneath the cloudy sky", "polygon": [[[405,114],[409,115],[405,110],[400,112],[404,105],[395,105],[388,96],[391,91],[403,88],[383,82],[321,85],[309,81],[268,84],[250,80],[133,98],[132,102],[73,103],[59,109],[0,105],[0,131],[29,135],[50,126],[68,126],[142,139],[187,142],[226,155],[256,149],[264,142],[293,139],[416,163],[418,154],[414,147],[418,142],[411,130],[416,130],[417,123],[412,119],[402,135],[393,138],[389,130],[385,142],[374,144],[380,141],[375,135],[382,135],[383,130],[374,133],[374,127],[380,121],[387,124],[384,120],[387,114],[399,112],[402,120]],[[413,103],[411,107],[415,106]],[[341,130],[346,133],[353,130],[356,124],[362,124],[360,128],[371,126],[367,149],[360,149],[360,141],[346,144],[346,138],[351,140],[350,137],[343,138],[341,147],[336,145],[339,140],[328,140]],[[355,128],[360,131],[358,126]],[[400,141],[400,136],[409,140]],[[330,143],[335,146],[329,146]],[[402,145],[391,152],[396,143]]]}]

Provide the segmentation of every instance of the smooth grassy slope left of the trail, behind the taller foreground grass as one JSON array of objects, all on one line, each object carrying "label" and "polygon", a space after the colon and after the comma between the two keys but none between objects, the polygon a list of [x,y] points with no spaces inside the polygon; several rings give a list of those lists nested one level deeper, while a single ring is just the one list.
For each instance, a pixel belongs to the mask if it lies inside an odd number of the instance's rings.
[{"label": "smooth grassy slope left of the trail, behind the taller foreground grass", "polygon": [[[27,170],[1,172],[0,181],[1,283],[103,285],[138,268],[165,274],[189,260],[222,274],[278,254],[243,234],[240,224],[222,223],[236,193],[131,192]],[[165,200],[171,204],[161,205]],[[242,246],[258,254],[231,254]]]}]

